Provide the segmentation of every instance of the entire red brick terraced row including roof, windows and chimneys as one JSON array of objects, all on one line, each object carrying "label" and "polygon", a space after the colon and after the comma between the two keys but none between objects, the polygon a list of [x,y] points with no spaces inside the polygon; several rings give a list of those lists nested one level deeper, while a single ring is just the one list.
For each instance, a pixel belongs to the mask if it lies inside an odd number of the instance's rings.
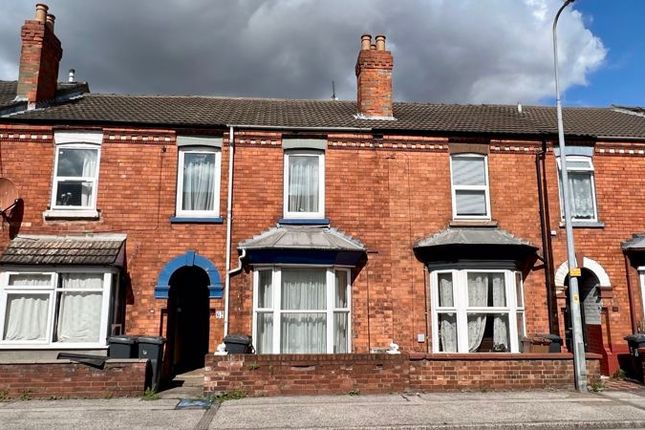
[{"label": "entire red brick terraced row including roof, windows and chimneys", "polygon": [[336,101],[95,94],[57,83],[46,8],[21,34],[19,80],[0,82],[0,175],[20,198],[0,360],[106,354],[125,333],[166,337],[170,375],[225,334],[252,336],[257,360],[396,343],[543,364],[526,339],[570,337],[563,156],[586,349],[605,374],[627,353],[645,291],[638,109],[565,108],[560,154],[551,107],[393,102],[384,36],[362,37],[357,100]]}]

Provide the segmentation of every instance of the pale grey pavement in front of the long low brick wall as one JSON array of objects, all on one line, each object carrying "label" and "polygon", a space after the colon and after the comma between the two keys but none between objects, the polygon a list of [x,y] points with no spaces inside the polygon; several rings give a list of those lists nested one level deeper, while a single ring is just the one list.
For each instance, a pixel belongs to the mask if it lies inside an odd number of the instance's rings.
[{"label": "pale grey pavement in front of the long low brick wall", "polygon": [[573,392],[506,392],[242,399],[222,404],[210,428],[638,427],[645,427],[645,409],[610,397]]}]

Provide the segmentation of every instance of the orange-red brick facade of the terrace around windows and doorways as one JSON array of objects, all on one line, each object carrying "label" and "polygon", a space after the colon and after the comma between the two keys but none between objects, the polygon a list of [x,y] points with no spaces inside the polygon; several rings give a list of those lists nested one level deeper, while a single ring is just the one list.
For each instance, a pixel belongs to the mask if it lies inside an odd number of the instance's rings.
[{"label": "orange-red brick facade of the terrace around windows and doorways", "polygon": [[[225,224],[171,224],[175,213],[177,147],[170,129],[105,128],[97,221],[53,221],[43,213],[51,197],[54,162],[51,126],[0,125],[2,176],[11,179],[25,201],[21,233],[69,234],[123,232],[131,279],[125,330],[130,334],[167,335],[166,300],[154,298],[164,265],[192,249],[209,258],[224,280]],[[43,138],[42,136],[45,136]],[[227,132],[223,133],[220,207],[225,214],[228,178]],[[352,283],[352,349],[366,353],[397,342],[406,352],[432,348],[427,274],[413,253],[415,241],[446,228],[452,219],[449,139],[431,136],[329,133],[325,153],[325,215],[361,240],[369,250],[365,267]],[[626,144],[600,142],[626,148]],[[542,247],[537,203],[535,141],[494,140],[489,155],[492,218],[503,229]],[[599,150],[598,150],[599,151]],[[282,218],[282,133],[236,131],[233,191],[233,247],[271,228]],[[625,348],[630,334],[625,259],[621,241],[645,231],[642,202],[630,196],[645,188],[645,157],[597,152],[596,192],[604,228],[575,229],[577,248],[609,274],[612,296],[603,299],[602,339],[606,349]],[[261,168],[258,168],[261,166]],[[559,227],[555,157],[547,153],[546,175],[556,268],[566,259]],[[627,169],[625,166],[630,166]],[[7,234],[0,244],[6,243]],[[235,253],[235,251],[234,251]],[[542,254],[542,250],[540,249]],[[237,264],[233,258],[233,264]],[[544,266],[538,261],[524,282],[529,335],[548,332]],[[251,274],[232,278],[230,332],[252,332]],[[638,288],[633,275],[633,288]],[[638,294],[634,295],[638,299]],[[560,305],[562,302],[560,302]],[[641,312],[640,304],[638,312]],[[211,299],[223,310],[221,299]],[[563,318],[560,318],[563,331]],[[210,320],[210,350],[223,335],[223,321]],[[425,340],[418,342],[417,334]]]}]

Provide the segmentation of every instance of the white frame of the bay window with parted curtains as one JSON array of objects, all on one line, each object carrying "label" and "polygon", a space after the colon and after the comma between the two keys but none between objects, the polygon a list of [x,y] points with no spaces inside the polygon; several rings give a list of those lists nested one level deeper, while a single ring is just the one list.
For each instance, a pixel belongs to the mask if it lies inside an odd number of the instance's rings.
[{"label": "white frame of the bay window with parted curtains", "polygon": [[[452,274],[452,293],[453,306],[439,307],[439,283],[438,275],[443,273]],[[503,273],[504,285],[506,292],[506,304],[504,307],[474,307],[468,306],[468,273]],[[520,272],[506,269],[452,269],[452,270],[435,270],[430,273],[430,298],[432,312],[432,352],[440,354],[450,354],[447,351],[439,350],[439,314],[454,313],[457,322],[457,353],[481,354],[468,351],[468,314],[485,313],[485,314],[506,314],[508,315],[508,336],[512,353],[520,352],[519,336],[526,333],[526,303],[524,301],[524,285],[520,285],[521,303],[518,306],[515,281]],[[522,314],[522,333],[518,333],[517,315]],[[454,352],[453,352],[454,353]],[[488,354],[488,352],[482,352]]]}]

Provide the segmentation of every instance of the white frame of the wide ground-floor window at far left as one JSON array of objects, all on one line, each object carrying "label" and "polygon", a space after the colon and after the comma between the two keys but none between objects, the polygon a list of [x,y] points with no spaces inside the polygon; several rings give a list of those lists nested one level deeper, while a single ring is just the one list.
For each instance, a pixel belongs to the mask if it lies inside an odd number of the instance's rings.
[{"label": "white frame of the wide ground-floor window at far left", "polygon": [[[61,273],[87,273],[103,274],[103,287],[99,289],[72,289],[60,288],[59,278]],[[11,275],[49,275],[51,283],[49,287],[44,286],[9,286],[9,276]],[[0,350],[2,349],[105,349],[107,348],[108,320],[112,307],[112,284],[115,280],[116,272],[106,271],[105,268],[94,267],[44,267],[42,270],[20,270],[9,269],[0,272]],[[7,341],[3,340],[7,312],[8,295],[15,292],[25,292],[33,294],[49,295],[49,311],[47,319],[47,339],[42,342],[35,341]],[[100,331],[97,342],[54,342],[54,318],[56,315],[56,306],[59,293],[62,292],[98,292],[102,294]]]}]

